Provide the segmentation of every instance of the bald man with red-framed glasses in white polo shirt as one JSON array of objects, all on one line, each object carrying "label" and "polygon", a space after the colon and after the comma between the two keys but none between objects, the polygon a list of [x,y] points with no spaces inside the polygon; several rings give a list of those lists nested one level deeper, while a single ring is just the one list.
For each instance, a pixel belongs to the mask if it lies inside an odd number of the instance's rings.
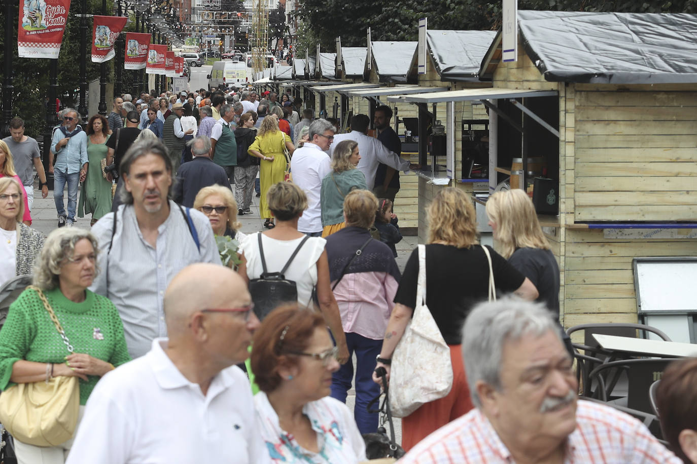
[{"label": "bald man with red-framed glasses in white polo shirt", "polygon": [[240,276],[192,264],[164,294],[169,338],[102,377],[68,463],[269,463],[252,390],[236,364],[259,326]]}]

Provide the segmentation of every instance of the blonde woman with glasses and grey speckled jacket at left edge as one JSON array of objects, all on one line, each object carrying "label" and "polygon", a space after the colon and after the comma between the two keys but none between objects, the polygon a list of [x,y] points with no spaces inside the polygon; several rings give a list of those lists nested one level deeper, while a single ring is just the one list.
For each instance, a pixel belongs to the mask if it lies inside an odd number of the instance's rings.
[{"label": "blonde woman with glasses and grey speckled jacket at left edge", "polygon": [[38,230],[22,224],[21,189],[14,177],[0,179],[0,286],[16,275],[33,273],[34,259],[44,243]]}]

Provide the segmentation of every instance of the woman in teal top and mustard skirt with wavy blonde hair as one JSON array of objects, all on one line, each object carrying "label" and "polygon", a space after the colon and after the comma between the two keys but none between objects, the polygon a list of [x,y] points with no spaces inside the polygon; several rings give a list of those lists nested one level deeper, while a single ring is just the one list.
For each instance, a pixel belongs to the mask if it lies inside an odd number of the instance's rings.
[{"label": "woman in teal top and mustard skirt with wavy blonde hair", "polygon": [[332,170],[322,179],[319,204],[322,209],[322,237],[346,227],[344,198],[354,190],[367,190],[365,175],[356,169],[360,161],[358,143],[345,140],[338,143],[332,154]]}]

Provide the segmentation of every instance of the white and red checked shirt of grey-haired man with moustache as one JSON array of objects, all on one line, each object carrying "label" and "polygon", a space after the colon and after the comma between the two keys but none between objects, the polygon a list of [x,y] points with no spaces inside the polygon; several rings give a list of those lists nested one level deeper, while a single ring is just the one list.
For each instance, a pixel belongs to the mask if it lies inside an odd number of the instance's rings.
[{"label": "white and red checked shirt of grey-haired man with moustache", "polygon": [[[473,409],[441,427],[400,464],[514,463],[489,419]],[[681,464],[637,419],[610,406],[579,400],[576,430],[567,440],[565,464]]]}]

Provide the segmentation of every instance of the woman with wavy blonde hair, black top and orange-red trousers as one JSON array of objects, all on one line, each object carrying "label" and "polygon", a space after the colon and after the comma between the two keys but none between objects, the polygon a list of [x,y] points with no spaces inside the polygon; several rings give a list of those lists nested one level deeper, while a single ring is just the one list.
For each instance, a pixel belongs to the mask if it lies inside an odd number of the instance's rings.
[{"label": "woman with wavy blonde hair, black top and orange-red trousers", "polygon": [[[460,328],[470,309],[486,300],[489,291],[489,260],[477,243],[477,216],[472,200],[456,187],[438,191],[427,209],[429,221],[426,250],[426,304],[445,343],[450,346],[453,381],[450,393],[425,403],[402,419],[402,447],[411,449],[429,433],[473,408],[462,365]],[[521,298],[537,298],[535,285],[490,247],[496,289]],[[389,360],[416,306],[419,273],[418,250],[406,262],[395,296],[385,341],[376,367],[390,373]],[[386,362],[381,362],[384,360]],[[380,382],[376,376],[374,381]]]}]

